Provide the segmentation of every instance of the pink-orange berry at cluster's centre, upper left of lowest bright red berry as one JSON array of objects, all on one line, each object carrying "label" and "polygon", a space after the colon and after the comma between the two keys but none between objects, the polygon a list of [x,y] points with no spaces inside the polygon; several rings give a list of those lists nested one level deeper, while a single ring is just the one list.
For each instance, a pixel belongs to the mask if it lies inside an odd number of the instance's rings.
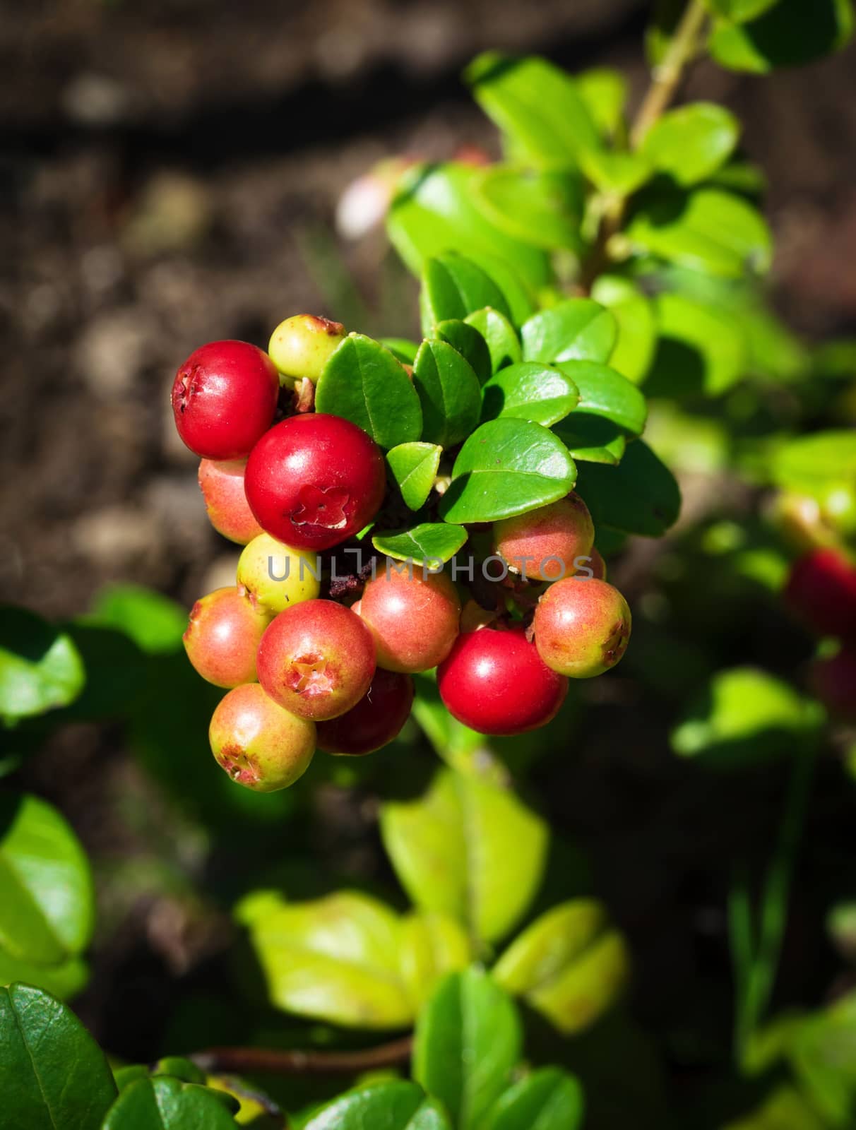
[{"label": "pink-orange berry at cluster's centre, upper left of lowest bright red berry", "polygon": [[387,559],[363,592],[359,615],[372,631],[377,666],[427,671],[452,650],[461,601],[446,573],[423,573],[411,562]]}]

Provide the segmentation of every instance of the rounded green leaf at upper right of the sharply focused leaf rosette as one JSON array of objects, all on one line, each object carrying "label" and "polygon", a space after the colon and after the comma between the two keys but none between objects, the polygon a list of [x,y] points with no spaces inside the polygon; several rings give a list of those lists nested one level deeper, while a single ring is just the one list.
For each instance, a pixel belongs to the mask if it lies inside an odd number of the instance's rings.
[{"label": "rounded green leaf at upper right of the sharply focused leaf rosette", "polygon": [[524,360],[609,360],[618,338],[612,314],[591,298],[568,298],[521,327]]}]

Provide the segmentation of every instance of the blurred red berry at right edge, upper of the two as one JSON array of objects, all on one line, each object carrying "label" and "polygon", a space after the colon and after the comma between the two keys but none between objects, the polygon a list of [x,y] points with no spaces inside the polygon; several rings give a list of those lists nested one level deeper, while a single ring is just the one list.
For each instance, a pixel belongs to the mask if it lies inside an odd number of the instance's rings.
[{"label": "blurred red berry at right edge, upper of the two", "polygon": [[856,568],[836,549],[814,549],[795,562],[785,599],[818,635],[856,640]]}]

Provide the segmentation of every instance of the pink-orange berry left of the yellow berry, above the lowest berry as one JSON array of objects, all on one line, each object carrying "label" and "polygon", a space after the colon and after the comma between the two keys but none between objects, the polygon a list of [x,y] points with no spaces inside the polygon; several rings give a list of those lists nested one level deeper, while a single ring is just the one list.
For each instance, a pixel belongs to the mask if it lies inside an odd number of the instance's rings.
[{"label": "pink-orange berry left of the yellow berry, above the lowest berry", "polygon": [[255,654],[270,615],[243,589],[215,589],[191,609],[184,650],[199,675],[216,687],[255,681]]}]

